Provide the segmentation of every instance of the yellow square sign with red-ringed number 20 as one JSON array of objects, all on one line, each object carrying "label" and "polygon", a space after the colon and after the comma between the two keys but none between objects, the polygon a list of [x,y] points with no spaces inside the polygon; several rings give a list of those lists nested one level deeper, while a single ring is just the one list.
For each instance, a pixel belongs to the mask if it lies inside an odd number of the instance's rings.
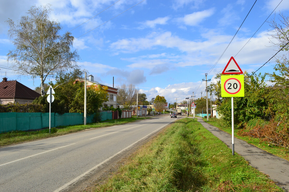
[{"label": "yellow square sign with red-ringed number 20", "polygon": [[221,96],[244,97],[244,75],[222,75]]}]

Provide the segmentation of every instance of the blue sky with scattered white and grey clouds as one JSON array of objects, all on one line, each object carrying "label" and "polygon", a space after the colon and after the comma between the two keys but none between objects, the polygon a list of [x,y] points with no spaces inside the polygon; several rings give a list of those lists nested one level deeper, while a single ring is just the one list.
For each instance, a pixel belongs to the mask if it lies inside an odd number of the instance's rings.
[{"label": "blue sky with scattered white and grey clouds", "polygon": [[[202,81],[205,73],[211,79],[208,83],[213,82],[216,73],[223,71],[231,56],[234,56],[242,71],[252,73],[277,52],[277,47],[269,43],[272,28],[267,22],[241,48],[281,0],[257,0],[219,61],[218,58],[255,1],[141,1],[1,1],[1,78],[6,72],[8,80],[16,79],[32,89],[40,85],[38,78],[33,80],[30,76],[20,76],[3,68],[11,66],[12,63],[6,61],[6,55],[8,50],[14,49],[7,35],[8,25],[5,21],[11,18],[16,22],[31,6],[47,3],[53,9],[51,19],[60,22],[63,32],[73,29],[71,33],[76,38],[73,49],[78,49],[81,57],[78,65],[81,69],[88,70],[96,81],[106,85],[112,86],[113,77],[115,86],[132,83],[140,92],[147,94],[149,100],[160,95],[168,102],[175,102],[176,98],[180,102],[193,92],[196,98],[201,97],[201,91],[203,94],[205,92],[205,82]],[[110,5],[110,8],[103,11]],[[288,0],[281,2],[268,21],[274,17],[278,19],[280,12],[288,16]],[[271,60],[259,71],[262,74],[270,73],[273,66],[274,60]],[[46,81],[49,80],[53,81]]]}]

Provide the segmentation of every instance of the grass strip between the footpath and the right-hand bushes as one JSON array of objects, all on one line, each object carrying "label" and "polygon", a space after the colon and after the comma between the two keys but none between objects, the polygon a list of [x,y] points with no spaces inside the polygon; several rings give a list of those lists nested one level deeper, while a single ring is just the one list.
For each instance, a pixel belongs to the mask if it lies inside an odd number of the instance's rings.
[{"label": "grass strip between the footpath and the right-hand bushes", "polygon": [[[207,119],[203,119],[205,122],[207,122]],[[210,123],[211,125],[219,128],[220,130],[223,130],[229,134],[232,134],[232,127],[224,127],[222,126],[221,122],[219,119],[216,118],[210,118],[208,123]],[[253,137],[249,137],[249,136],[240,136],[238,135],[238,131],[240,129],[234,129],[234,136],[236,138],[242,139],[244,141],[246,141],[249,144],[252,144],[260,149],[263,149],[264,151],[267,151],[269,153],[272,153],[273,155],[276,155],[278,157],[281,157],[283,159],[286,159],[287,161],[289,161],[289,151],[288,149],[285,149],[284,147],[279,147],[279,146],[275,146],[272,144],[266,143],[266,142],[261,142],[260,139],[258,138],[253,138]]]}]

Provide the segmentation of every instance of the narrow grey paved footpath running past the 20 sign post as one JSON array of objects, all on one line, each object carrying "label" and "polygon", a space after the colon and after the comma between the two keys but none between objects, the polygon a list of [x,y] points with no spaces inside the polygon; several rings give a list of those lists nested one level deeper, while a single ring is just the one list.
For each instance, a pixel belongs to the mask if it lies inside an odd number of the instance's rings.
[{"label": "narrow grey paved footpath running past the 20 sign post", "polygon": [[[201,117],[197,117],[197,119],[207,130],[232,149],[231,134],[206,123]],[[275,181],[284,191],[289,191],[289,161],[237,138],[234,138],[234,151],[249,161],[250,166],[269,175],[269,178]]]}]

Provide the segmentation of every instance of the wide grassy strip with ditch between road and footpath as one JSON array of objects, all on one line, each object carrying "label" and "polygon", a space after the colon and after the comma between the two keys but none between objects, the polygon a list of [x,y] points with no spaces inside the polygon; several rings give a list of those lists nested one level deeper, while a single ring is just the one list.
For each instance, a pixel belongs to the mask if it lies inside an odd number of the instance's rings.
[{"label": "wide grassy strip with ditch between road and footpath", "polygon": [[184,118],[141,147],[95,191],[282,191],[203,128]]}]

